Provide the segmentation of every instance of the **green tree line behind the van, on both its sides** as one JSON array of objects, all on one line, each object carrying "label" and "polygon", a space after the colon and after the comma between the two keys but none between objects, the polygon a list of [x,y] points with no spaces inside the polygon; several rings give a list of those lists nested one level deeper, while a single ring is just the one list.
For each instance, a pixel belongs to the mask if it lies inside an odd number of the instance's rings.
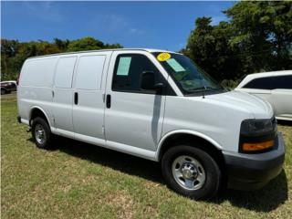
[{"label": "green tree line behind the van, on both its sides", "polygon": [[[237,2],[223,13],[227,20],[218,25],[212,25],[212,17],[197,18],[181,52],[227,86],[245,74],[292,69],[292,2]],[[89,36],[53,42],[1,39],[1,79],[16,79],[27,57],[120,47]]]}]

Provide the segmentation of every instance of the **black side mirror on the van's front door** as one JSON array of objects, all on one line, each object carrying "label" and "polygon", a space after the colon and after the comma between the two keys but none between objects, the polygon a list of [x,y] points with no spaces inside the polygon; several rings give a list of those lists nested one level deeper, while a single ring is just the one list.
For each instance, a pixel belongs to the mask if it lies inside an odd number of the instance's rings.
[{"label": "black side mirror on the van's front door", "polygon": [[141,74],[141,89],[161,92],[163,87],[163,83],[155,84],[155,76],[152,71],[144,71]]}]

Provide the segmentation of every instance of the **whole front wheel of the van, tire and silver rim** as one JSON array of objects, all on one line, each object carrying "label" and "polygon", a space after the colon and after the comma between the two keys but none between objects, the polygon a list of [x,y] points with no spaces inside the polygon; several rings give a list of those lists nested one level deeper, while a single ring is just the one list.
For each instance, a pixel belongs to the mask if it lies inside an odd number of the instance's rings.
[{"label": "whole front wheel of the van, tire and silver rim", "polygon": [[162,175],[172,190],[193,199],[213,198],[221,184],[221,172],[214,158],[187,145],[172,147],[164,153]]}]

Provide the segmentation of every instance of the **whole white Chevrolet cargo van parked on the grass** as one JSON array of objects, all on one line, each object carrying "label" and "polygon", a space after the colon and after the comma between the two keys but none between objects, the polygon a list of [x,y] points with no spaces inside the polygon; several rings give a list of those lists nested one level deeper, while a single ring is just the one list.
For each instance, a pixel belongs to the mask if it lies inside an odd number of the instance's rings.
[{"label": "whole white Chevrolet cargo van parked on the grass", "polygon": [[191,59],[156,49],[28,58],[18,121],[38,148],[54,135],[161,162],[165,182],[194,199],[258,189],[282,170],[285,145],[265,100],[224,90]]}]

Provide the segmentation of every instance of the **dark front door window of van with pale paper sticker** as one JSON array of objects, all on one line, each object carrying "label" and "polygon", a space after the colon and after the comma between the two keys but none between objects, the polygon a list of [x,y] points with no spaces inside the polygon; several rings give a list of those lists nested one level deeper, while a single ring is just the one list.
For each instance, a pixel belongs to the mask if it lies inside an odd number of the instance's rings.
[{"label": "dark front door window of van with pale paper sticker", "polygon": [[155,83],[163,82],[164,78],[148,57],[141,54],[122,54],[116,59],[112,90],[121,92],[153,93],[141,90],[141,74],[151,71],[155,76]]}]

